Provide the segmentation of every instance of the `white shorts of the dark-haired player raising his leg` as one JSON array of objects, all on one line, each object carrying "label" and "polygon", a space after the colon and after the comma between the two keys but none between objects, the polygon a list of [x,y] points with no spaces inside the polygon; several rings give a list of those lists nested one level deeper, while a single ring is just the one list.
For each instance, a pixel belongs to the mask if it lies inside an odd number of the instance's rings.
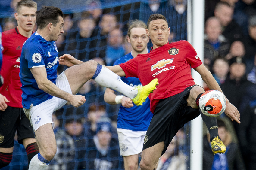
[{"label": "white shorts of the dark-haired player raising his leg", "polygon": [[[56,86],[61,90],[72,94],[70,85],[64,71],[57,77]],[[53,96],[52,99],[48,99],[36,106],[33,106],[33,104],[31,104],[29,109],[23,108],[23,110],[27,118],[30,120],[34,131],[36,131],[40,126],[47,123],[52,123],[53,129],[54,123],[52,121],[52,113],[64,106],[66,103],[66,100]]]}]

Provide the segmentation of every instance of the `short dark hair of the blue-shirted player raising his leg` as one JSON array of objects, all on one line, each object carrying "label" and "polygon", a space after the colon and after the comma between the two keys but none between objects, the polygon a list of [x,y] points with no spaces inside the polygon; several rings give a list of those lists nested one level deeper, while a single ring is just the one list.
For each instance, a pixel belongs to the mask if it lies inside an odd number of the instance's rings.
[{"label": "short dark hair of the blue-shirted player raising his leg", "polygon": [[36,11],[36,24],[39,29],[45,28],[48,23],[56,26],[59,22],[58,17],[64,17],[63,12],[58,7],[43,6],[42,9]]}]

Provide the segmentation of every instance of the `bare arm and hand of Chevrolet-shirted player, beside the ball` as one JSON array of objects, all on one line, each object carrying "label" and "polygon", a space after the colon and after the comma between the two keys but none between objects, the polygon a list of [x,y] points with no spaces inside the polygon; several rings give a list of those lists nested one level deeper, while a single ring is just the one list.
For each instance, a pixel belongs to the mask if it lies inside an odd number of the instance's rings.
[{"label": "bare arm and hand of Chevrolet-shirted player, beside the ball", "polygon": [[[222,92],[222,90],[220,89],[219,84],[216,82],[216,80],[214,79],[214,77],[212,76],[212,74],[210,73],[210,71],[207,70],[207,68],[205,68],[205,66],[203,64],[201,64],[200,66],[194,68],[195,71],[197,71],[202,79],[204,80],[204,82],[207,84],[207,86],[210,89],[214,89],[214,90],[218,90],[220,92]],[[223,92],[222,92],[223,93]],[[240,123],[240,113],[237,110],[237,108],[232,105],[229,100],[226,98],[226,110],[225,110],[225,114],[233,121],[235,120],[237,123]]]}]

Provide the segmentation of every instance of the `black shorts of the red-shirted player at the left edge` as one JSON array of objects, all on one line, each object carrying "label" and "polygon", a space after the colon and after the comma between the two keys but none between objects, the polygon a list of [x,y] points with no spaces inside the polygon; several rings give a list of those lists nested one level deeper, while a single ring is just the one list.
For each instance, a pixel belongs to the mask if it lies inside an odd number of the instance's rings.
[{"label": "black shorts of the red-shirted player at the left edge", "polygon": [[34,130],[23,108],[8,106],[5,111],[0,111],[0,147],[14,146],[16,130],[19,144],[23,144],[24,138],[35,138]]}]

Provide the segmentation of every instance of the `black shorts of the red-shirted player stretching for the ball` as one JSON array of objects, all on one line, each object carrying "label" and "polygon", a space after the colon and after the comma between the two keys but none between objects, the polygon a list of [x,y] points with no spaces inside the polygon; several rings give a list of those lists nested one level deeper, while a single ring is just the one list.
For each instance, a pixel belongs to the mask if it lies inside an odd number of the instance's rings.
[{"label": "black shorts of the red-shirted player stretching for the ball", "polygon": [[200,115],[199,109],[187,106],[186,99],[192,87],[187,87],[183,92],[158,102],[142,150],[164,141],[163,155],[178,130]]}]

